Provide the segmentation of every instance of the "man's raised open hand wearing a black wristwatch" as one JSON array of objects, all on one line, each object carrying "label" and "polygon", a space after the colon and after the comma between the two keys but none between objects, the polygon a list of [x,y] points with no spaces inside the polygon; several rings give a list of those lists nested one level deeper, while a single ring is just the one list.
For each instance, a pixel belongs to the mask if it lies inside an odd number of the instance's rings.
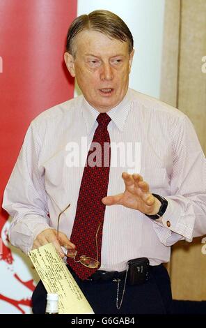
[{"label": "man's raised open hand wearing a black wristwatch", "polygon": [[122,179],[125,180],[125,192],[102,198],[103,204],[119,204],[148,215],[158,213],[161,203],[150,193],[150,186],[140,174],[123,172]]}]

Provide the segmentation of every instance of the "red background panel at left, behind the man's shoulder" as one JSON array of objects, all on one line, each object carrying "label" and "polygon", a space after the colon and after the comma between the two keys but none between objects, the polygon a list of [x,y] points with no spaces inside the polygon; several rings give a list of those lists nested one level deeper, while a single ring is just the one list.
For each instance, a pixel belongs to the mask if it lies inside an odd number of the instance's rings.
[{"label": "red background panel at left, behind the man's shoulder", "polygon": [[[0,195],[31,120],[72,98],[74,80],[63,63],[77,0],[0,2]],[[1,72],[1,70],[0,70]],[[6,218],[1,210],[0,231]]]}]

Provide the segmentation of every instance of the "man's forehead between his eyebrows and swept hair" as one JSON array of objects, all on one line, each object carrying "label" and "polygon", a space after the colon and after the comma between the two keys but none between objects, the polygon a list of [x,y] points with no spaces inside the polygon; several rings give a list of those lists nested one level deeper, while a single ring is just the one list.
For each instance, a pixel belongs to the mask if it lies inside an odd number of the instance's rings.
[{"label": "man's forehead between his eyebrows and swept hair", "polygon": [[111,38],[104,33],[94,30],[85,30],[77,34],[74,40],[74,48],[81,54],[94,53],[101,55],[106,52],[127,54],[129,50],[128,42],[122,42],[116,38]]}]

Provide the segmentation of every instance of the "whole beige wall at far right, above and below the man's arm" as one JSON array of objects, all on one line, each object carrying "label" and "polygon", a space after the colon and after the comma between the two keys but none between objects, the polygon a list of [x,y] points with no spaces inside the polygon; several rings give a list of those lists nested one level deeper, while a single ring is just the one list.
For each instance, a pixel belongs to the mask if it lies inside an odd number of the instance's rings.
[{"label": "whole beige wall at far right, above and below the man's arm", "polygon": [[[161,100],[187,114],[206,154],[206,73],[201,70],[206,56],[205,0],[166,0],[163,53]],[[174,299],[206,300],[201,240],[173,246],[169,271]]]}]

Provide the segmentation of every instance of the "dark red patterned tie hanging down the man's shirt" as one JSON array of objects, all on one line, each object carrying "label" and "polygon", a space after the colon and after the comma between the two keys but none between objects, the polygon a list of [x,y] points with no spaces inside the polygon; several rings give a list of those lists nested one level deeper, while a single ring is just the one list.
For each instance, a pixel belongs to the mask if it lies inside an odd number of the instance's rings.
[{"label": "dark red patterned tie hanging down the man's shirt", "polygon": [[[98,261],[101,260],[102,227],[105,212],[102,198],[107,195],[111,156],[110,137],[107,131],[109,121],[111,118],[106,113],[101,113],[97,117],[98,126],[88,151],[81,179],[77,211],[70,237],[78,252],[75,260],[79,260],[81,255],[97,259],[97,251]],[[68,264],[82,280],[97,270],[97,268],[85,267],[80,262],[74,262],[73,258],[68,258]]]}]

